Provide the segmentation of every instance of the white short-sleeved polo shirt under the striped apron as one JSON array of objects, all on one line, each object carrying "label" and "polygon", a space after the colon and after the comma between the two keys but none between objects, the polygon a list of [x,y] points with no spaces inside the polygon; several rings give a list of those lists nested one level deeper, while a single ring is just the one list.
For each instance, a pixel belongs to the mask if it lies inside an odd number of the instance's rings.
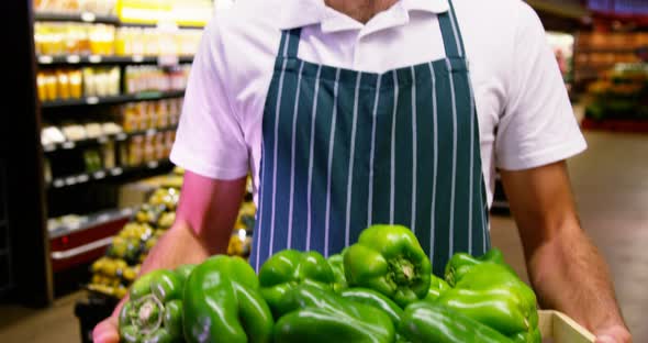
[{"label": "white short-sleeved polo shirt under the striped apron", "polygon": [[[495,168],[571,157],[586,144],[543,25],[521,0],[454,0],[479,117],[489,204]],[[257,199],[264,106],[281,30],[303,26],[299,57],[369,73],[445,57],[447,0],[400,0],[367,24],[323,0],[238,0],[217,11],[195,55],[171,161],[214,179],[249,170]]]}]

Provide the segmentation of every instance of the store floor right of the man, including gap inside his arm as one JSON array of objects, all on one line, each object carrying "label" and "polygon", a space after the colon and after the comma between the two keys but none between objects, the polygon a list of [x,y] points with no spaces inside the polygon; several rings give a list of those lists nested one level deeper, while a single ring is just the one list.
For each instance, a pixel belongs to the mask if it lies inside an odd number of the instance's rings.
[{"label": "store floor right of the man, including gap inside his arm", "polygon": [[[635,342],[648,342],[648,136],[586,133],[589,150],[569,169],[588,231],[607,258]],[[494,217],[493,244],[525,277],[523,253],[510,218]]]}]

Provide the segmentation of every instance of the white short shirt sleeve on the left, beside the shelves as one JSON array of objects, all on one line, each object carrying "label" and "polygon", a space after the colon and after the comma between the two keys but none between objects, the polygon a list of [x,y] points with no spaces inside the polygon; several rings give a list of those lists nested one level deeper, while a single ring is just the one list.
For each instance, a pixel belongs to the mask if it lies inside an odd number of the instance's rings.
[{"label": "white short shirt sleeve on the left, beside the shelves", "polygon": [[230,68],[219,29],[216,16],[195,54],[170,158],[195,174],[231,180],[247,174],[248,148],[227,93]]}]

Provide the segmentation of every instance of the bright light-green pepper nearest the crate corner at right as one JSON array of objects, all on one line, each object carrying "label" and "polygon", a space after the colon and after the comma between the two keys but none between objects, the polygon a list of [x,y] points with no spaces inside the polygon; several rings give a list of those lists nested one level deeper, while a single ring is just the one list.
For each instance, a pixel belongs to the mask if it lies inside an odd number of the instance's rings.
[{"label": "bright light-green pepper nearest the crate corner at right", "polygon": [[454,288],[440,296],[437,303],[461,312],[505,335],[528,332],[532,328],[529,313],[518,296],[504,288],[489,290]]}]

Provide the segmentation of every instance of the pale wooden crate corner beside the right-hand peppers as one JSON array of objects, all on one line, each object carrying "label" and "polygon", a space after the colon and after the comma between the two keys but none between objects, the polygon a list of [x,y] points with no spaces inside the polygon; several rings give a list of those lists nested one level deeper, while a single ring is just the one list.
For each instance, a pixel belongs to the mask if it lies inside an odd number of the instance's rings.
[{"label": "pale wooden crate corner beside the right-hand peppers", "polygon": [[539,311],[543,342],[593,343],[595,336],[579,323],[558,311]]}]

